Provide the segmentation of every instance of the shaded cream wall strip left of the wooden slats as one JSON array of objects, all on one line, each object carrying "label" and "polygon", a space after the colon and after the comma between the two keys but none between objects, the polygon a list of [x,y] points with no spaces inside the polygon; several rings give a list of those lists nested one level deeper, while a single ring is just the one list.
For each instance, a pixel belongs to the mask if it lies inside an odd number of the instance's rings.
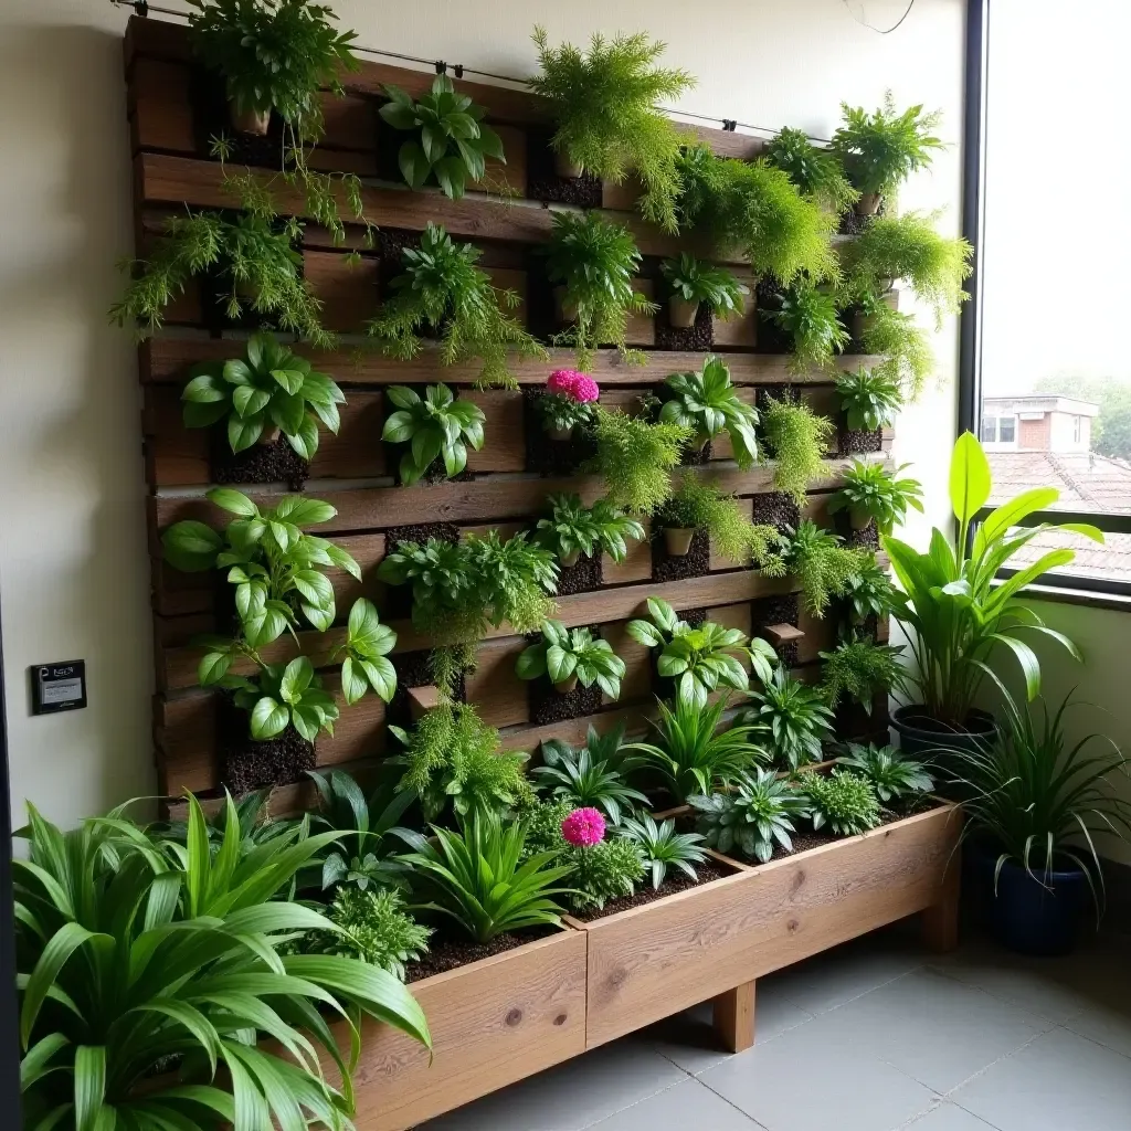
[{"label": "shaded cream wall strip left of the wooden slats", "polygon": [[[103,28],[46,26],[24,0],[0,14],[9,757],[17,811],[64,824],[154,791],[137,362],[106,318],[132,248],[124,20],[106,8],[83,12]],[[90,706],[32,718],[28,665],[80,657]]]}]

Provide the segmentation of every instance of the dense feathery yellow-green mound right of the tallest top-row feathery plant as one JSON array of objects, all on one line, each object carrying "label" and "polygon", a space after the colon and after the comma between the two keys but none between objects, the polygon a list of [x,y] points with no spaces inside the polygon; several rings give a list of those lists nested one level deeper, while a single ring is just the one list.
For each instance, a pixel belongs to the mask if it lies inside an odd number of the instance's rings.
[{"label": "dense feathery yellow-green mound right of the tallest top-row feathery plant", "polygon": [[720,245],[741,251],[756,275],[770,275],[783,286],[803,274],[836,278],[835,219],[779,169],[766,161],[715,157],[691,146],[680,171],[684,218]]}]

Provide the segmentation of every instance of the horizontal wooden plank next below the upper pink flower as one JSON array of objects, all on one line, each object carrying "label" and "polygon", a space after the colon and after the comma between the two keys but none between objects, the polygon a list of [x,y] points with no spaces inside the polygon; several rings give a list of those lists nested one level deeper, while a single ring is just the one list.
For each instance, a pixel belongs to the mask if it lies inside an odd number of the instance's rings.
[{"label": "horizontal wooden plank next below the upper pink flower", "polygon": [[[879,458],[879,457],[878,457]],[[851,459],[828,459],[824,474],[810,484],[810,490],[836,487]],[[739,495],[763,494],[774,489],[774,465],[762,464],[741,472],[723,467],[711,473],[711,482],[719,490]],[[563,478],[492,478],[470,482],[444,482],[434,485],[417,484],[412,487],[359,487],[352,491],[320,491],[319,497],[337,509],[335,518],[326,523],[320,533],[327,536],[354,530],[386,529],[420,523],[422,516],[433,523],[489,523],[517,519],[538,513],[549,494],[575,492],[586,506],[592,506],[604,494],[604,482],[598,476],[570,476]],[[260,506],[274,506],[271,494],[251,492]],[[188,497],[158,497],[148,500],[150,530],[163,530],[170,523],[195,518],[223,528],[227,523],[224,511],[206,499]]]}]

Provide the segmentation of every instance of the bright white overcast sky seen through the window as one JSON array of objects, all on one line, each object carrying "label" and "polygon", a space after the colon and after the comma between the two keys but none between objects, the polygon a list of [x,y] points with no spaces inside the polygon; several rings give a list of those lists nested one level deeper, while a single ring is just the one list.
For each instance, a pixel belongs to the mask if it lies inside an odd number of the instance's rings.
[{"label": "bright white overcast sky seen through the window", "polygon": [[990,9],[985,391],[1131,381],[1129,6]]}]

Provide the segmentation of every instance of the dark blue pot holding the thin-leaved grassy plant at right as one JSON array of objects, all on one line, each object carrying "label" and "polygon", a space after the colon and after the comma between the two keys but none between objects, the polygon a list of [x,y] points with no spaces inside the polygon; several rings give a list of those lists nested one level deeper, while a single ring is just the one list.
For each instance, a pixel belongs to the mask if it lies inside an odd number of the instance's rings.
[{"label": "dark blue pot holding the thin-leaved grassy plant at right", "polygon": [[994,938],[1019,955],[1071,953],[1090,901],[1087,877],[1079,869],[1045,873],[1039,879],[1007,862],[994,888],[998,855],[984,846],[966,853],[978,917]]}]

